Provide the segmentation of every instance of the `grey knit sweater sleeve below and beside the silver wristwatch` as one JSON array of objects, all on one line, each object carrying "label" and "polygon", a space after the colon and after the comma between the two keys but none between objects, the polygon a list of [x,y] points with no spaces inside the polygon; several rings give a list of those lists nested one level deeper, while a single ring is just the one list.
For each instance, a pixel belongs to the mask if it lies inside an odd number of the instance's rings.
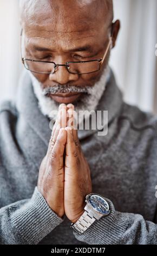
[{"label": "grey knit sweater sleeve below and beside the silver wristwatch", "polygon": [[75,237],[89,245],[157,244],[157,227],[146,222],[141,215],[115,211],[113,203],[106,198],[110,214],[95,221],[82,235]]}]

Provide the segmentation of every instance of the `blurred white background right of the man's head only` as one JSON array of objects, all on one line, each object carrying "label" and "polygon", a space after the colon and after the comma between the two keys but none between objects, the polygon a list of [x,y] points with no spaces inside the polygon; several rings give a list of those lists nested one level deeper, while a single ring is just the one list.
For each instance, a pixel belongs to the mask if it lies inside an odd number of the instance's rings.
[{"label": "blurred white background right of the man's head only", "polygon": [[156,84],[157,1],[114,0],[121,31],[111,66],[129,103],[151,111]]}]

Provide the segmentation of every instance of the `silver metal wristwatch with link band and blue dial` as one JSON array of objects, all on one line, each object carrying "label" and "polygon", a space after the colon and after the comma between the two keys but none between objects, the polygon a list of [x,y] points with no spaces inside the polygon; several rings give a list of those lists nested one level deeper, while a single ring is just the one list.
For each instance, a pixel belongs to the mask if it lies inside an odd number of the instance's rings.
[{"label": "silver metal wristwatch with link band and blue dial", "polygon": [[71,223],[70,226],[80,235],[83,234],[94,221],[100,220],[102,216],[106,216],[110,213],[108,203],[99,194],[88,194],[85,202],[87,204],[84,207],[85,211],[82,216],[76,223]]}]

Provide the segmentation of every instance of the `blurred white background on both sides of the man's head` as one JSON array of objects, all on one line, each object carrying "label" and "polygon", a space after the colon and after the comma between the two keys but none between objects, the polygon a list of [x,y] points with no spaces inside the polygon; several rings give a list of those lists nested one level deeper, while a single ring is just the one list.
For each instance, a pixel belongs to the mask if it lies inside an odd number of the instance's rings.
[{"label": "blurred white background on both sides of the man's head", "polygon": [[[126,102],[157,114],[157,0],[114,0],[121,31],[110,66]],[[0,0],[0,101],[14,99],[22,72],[18,0]]]}]

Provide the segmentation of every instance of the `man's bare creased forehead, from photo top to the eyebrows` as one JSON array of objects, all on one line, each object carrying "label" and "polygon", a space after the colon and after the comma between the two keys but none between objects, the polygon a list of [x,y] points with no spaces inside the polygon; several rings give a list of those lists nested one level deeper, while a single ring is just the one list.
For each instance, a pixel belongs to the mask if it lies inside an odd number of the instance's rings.
[{"label": "man's bare creased forehead, from photo top to the eyebrows", "polygon": [[104,22],[104,13],[100,8],[100,3],[104,0],[96,0],[99,4],[95,4],[91,8],[87,8],[87,6],[91,2],[94,3],[94,0],[82,0],[78,7],[77,0],[44,1],[48,5],[45,4],[43,8],[41,8],[42,0],[37,1],[38,6],[36,6],[35,0],[33,3],[30,0],[30,5],[25,7],[23,29],[29,42],[35,44],[35,40],[38,40],[41,45],[54,44],[54,46],[61,46],[64,49],[68,45],[77,47],[84,44],[95,44],[97,46],[98,41],[101,44],[101,40],[103,44],[109,26],[108,22]]}]

